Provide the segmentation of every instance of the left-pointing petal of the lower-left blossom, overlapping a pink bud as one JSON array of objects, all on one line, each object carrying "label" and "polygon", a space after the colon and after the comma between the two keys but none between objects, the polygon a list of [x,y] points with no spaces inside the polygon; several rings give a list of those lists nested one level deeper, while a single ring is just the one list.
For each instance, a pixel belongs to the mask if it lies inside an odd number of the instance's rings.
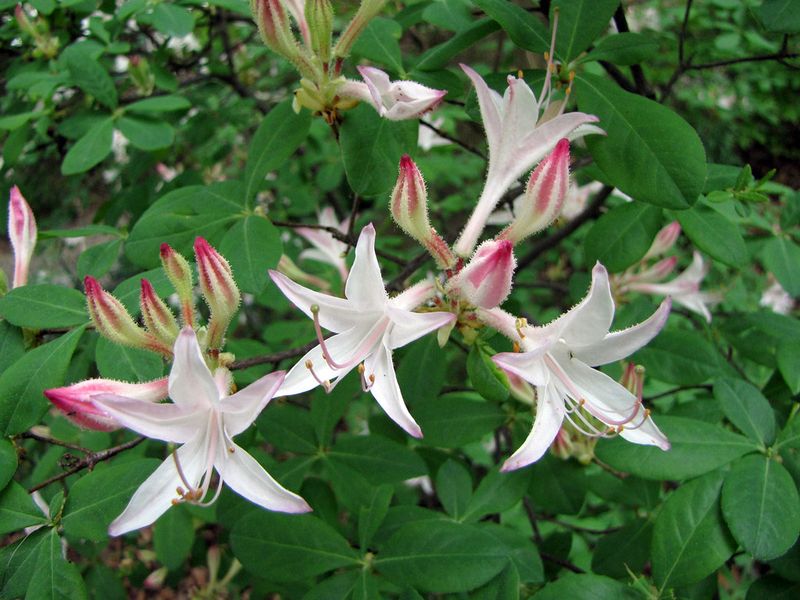
[{"label": "left-pointing petal of the lower-left blossom, overlapping a pink bud", "polygon": [[206,411],[180,404],[155,404],[114,394],[97,394],[92,401],[125,427],[176,444],[194,438],[208,420]]}]

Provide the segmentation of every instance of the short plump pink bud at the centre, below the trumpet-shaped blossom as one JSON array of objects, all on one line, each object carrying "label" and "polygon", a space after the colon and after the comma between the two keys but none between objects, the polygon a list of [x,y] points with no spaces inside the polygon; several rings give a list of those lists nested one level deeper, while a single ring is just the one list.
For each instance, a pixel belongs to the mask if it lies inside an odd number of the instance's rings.
[{"label": "short plump pink bud at the centre, below the trumpet-shaped blossom", "polygon": [[447,293],[481,308],[494,308],[511,292],[517,261],[509,240],[487,240],[447,284]]}]

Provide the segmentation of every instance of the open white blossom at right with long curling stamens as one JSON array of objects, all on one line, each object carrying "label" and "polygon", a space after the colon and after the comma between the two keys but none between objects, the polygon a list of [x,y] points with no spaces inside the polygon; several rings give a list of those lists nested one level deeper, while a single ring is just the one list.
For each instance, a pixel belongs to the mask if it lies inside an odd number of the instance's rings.
[{"label": "open white blossom at right with long curling stamens", "polygon": [[609,332],[614,300],[608,273],[599,263],[592,270],[586,298],[547,325],[531,327],[500,309],[478,309],[484,323],[518,340],[524,350],[496,354],[493,360],[536,387],[533,429],[503,470],[518,469],[541,458],[565,419],[588,436],[618,434],[635,444],[668,450],[667,438],[641,398],[592,367],[621,360],[647,344],[664,326],[669,310],[670,300],[666,299],[642,323]]}]

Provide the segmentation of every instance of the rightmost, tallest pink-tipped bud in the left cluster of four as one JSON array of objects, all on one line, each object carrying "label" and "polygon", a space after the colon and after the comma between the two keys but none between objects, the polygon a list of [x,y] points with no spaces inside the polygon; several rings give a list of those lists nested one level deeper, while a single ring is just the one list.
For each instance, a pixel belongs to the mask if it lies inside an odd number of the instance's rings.
[{"label": "rightmost, tallest pink-tipped bud in the left cluster of four", "polygon": [[208,347],[221,348],[225,331],[239,310],[241,296],[228,261],[201,237],[194,240],[194,255],[200,278],[200,291],[211,311],[208,321]]}]

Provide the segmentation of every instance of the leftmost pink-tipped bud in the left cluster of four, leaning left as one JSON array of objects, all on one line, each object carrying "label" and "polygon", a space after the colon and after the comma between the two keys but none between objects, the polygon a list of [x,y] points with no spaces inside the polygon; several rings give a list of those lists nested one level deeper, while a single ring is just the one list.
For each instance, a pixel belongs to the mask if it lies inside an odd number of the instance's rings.
[{"label": "leftmost pink-tipped bud in the left cluster of four, leaning left", "polygon": [[146,348],[172,356],[169,346],[139,327],[122,302],[106,292],[91,276],[83,280],[86,289],[86,305],[95,329],[116,344],[133,348]]}]

